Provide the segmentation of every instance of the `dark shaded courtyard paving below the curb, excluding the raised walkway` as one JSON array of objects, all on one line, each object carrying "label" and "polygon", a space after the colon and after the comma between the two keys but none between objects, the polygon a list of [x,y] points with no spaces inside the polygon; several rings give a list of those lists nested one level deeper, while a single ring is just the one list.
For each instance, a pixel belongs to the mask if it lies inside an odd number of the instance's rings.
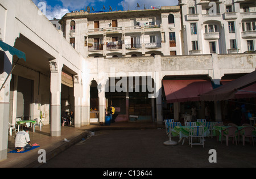
[{"label": "dark shaded courtyard paving below the curb, excluding the raised walkway", "polygon": [[[216,142],[206,138],[205,147],[164,146],[164,129],[106,130],[82,140],[42,167],[83,168],[175,168],[256,167],[255,147]],[[174,140],[178,140],[174,138]],[[209,163],[209,150],[217,151],[217,163]]]}]

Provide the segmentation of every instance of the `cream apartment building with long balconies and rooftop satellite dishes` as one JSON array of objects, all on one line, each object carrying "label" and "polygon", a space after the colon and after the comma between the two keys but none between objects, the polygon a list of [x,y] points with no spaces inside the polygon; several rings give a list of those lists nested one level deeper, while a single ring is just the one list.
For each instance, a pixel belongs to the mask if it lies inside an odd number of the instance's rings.
[{"label": "cream apartment building with long balconies and rooftop satellite dishes", "polygon": [[154,10],[71,12],[60,20],[64,37],[83,57],[181,55],[179,6]]}]

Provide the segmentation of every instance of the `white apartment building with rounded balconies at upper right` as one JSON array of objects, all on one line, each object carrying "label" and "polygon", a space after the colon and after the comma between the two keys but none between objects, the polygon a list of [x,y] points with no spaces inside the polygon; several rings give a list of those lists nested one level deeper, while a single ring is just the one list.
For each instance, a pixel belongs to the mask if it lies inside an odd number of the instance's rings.
[{"label": "white apartment building with rounded balconies at upper right", "polygon": [[230,54],[255,50],[256,2],[179,0],[184,54]]}]

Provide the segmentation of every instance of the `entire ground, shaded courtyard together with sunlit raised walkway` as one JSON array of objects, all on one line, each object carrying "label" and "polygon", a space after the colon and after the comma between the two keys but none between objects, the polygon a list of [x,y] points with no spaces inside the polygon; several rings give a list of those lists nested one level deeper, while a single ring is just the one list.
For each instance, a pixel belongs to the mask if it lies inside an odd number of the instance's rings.
[{"label": "entire ground, shaded courtyard together with sunlit raised walkway", "polygon": [[[96,131],[88,137],[89,131]],[[154,123],[114,123],[81,128],[61,126],[61,137],[51,137],[50,126],[30,131],[32,143],[40,144],[25,154],[7,154],[0,167],[86,167],[86,168],[170,168],[170,167],[256,167],[255,146],[238,146],[206,138],[205,148],[164,146],[168,138],[164,125]],[[70,142],[64,142],[67,138]],[[85,140],[82,140],[82,139]],[[178,140],[177,138],[173,138]],[[14,135],[9,136],[8,151],[14,150]],[[47,163],[38,163],[38,150],[46,150]],[[209,163],[210,149],[217,151],[217,163]]]}]

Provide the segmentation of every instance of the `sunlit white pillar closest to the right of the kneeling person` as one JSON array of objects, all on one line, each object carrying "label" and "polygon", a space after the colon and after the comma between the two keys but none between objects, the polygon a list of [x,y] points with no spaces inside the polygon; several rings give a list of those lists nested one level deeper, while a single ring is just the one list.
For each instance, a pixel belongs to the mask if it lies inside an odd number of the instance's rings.
[{"label": "sunlit white pillar closest to the right of the kneeling person", "polygon": [[61,71],[57,62],[49,62],[51,69],[51,136],[61,136]]}]

